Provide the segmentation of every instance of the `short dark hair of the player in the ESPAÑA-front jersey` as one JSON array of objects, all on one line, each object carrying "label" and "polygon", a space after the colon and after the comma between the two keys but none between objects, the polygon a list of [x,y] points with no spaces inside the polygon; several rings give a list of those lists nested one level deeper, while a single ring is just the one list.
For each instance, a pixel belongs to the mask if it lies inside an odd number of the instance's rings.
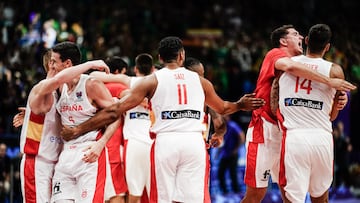
[{"label": "short dark hair of the player in the ESPA\u00d1A-front jersey", "polygon": [[80,49],[73,42],[65,41],[55,44],[54,47],[52,48],[52,51],[60,55],[61,61],[70,59],[71,63],[74,66],[79,65],[81,63]]}]

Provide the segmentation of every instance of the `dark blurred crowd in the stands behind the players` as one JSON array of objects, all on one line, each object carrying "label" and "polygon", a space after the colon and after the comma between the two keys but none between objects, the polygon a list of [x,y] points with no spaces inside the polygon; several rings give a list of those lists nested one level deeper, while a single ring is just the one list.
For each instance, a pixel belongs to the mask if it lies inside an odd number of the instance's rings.
[{"label": "dark blurred crowd in the stands behind the players", "polygon": [[[156,58],[162,37],[179,36],[186,55],[205,65],[205,75],[219,95],[236,100],[254,90],[274,28],[293,24],[305,36],[311,25],[326,23],[333,31],[326,58],[341,64],[346,79],[359,87],[359,9],[360,2],[355,0],[1,1],[0,142],[7,148],[5,155],[10,161],[19,156],[20,129],[12,127],[12,118],[18,107],[25,106],[31,87],[44,78],[41,56],[55,43],[77,43],[83,61],[116,55],[131,67],[139,53]],[[337,155],[345,157],[338,158],[342,162],[335,170],[342,171],[338,175],[342,180],[336,184],[360,187],[359,91],[349,93],[349,98],[334,122],[334,137],[341,140],[336,141],[336,150],[342,150]],[[246,112],[232,115],[244,130],[249,117]],[[0,156],[0,170],[6,171],[9,165]]]}]

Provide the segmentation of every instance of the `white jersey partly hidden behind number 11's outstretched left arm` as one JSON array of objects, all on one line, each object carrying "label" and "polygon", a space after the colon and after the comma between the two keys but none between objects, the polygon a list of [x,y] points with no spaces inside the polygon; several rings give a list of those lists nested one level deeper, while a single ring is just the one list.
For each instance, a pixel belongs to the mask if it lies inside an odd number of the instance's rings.
[{"label": "white jersey partly hidden behind number 11's outstretched left arm", "polygon": [[[130,87],[139,81],[141,77],[131,77]],[[123,135],[124,139],[137,139],[146,143],[152,143],[150,139],[150,111],[142,105],[138,105],[125,113]]]}]

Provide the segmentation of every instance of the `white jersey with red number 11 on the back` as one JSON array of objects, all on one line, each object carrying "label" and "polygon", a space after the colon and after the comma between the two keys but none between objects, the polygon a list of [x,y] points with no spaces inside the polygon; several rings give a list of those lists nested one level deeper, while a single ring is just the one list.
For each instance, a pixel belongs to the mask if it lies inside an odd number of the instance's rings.
[{"label": "white jersey with red number 11 on the back", "polygon": [[197,73],[179,67],[155,72],[158,84],[151,98],[155,122],[151,132],[203,132],[204,90]]}]

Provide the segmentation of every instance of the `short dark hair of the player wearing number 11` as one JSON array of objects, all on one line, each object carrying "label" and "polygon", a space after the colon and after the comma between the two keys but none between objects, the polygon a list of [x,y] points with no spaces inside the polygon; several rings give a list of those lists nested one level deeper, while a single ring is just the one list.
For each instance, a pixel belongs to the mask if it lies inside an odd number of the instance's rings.
[{"label": "short dark hair of the player wearing number 11", "polygon": [[184,49],[182,40],[179,37],[169,36],[163,38],[159,42],[159,55],[160,58],[165,62],[171,62],[176,60],[179,52]]}]

